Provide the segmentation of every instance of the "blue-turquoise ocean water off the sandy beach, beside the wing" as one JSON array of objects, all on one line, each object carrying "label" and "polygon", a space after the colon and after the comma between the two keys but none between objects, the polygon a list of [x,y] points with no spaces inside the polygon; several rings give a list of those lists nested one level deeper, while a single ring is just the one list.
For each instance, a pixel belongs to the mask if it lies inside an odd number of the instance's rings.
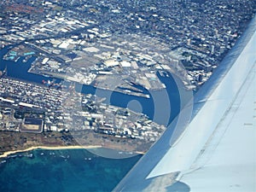
[{"label": "blue-turquoise ocean water off the sandy beach, beside the wing", "polygon": [[115,160],[84,149],[15,154],[0,164],[0,191],[111,191],[141,156]]}]

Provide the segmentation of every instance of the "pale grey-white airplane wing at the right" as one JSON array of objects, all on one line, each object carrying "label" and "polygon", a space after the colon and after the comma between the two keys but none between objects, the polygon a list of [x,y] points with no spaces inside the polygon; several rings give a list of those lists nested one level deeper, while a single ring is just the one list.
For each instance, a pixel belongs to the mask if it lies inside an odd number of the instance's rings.
[{"label": "pale grey-white airplane wing at the right", "polygon": [[113,191],[256,191],[255,31],[256,17],[195,95],[189,123],[174,119]]}]

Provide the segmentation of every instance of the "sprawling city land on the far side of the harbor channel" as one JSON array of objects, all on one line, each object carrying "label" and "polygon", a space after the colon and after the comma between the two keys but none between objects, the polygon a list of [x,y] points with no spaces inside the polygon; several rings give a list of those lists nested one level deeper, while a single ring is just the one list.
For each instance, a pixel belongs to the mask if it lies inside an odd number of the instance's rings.
[{"label": "sprawling city land on the far side of the harbor channel", "polygon": [[169,71],[196,90],[255,10],[248,0],[8,1],[1,7],[0,41],[13,46],[6,60],[37,56],[32,73],[108,90],[116,88],[108,79],[119,77],[127,90],[131,82],[155,90],[164,88],[155,73]]}]

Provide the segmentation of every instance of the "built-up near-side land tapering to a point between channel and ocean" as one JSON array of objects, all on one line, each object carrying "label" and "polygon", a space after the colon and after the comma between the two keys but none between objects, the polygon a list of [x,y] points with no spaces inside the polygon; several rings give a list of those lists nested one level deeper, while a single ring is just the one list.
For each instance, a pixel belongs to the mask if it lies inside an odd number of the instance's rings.
[{"label": "built-up near-side land tapering to a point between channel and ocean", "polygon": [[[37,145],[77,144],[145,152],[165,130],[165,126],[142,113],[108,105],[104,98],[78,93],[72,86],[56,90],[6,77],[0,82],[2,152]],[[34,121],[40,124],[34,125]],[[34,126],[37,129],[31,128]]]}]

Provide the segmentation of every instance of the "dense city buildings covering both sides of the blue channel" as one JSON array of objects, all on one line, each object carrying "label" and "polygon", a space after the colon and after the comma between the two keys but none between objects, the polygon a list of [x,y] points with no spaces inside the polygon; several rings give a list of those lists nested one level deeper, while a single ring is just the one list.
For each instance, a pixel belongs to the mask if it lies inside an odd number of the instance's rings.
[{"label": "dense city buildings covering both sides of the blue channel", "polygon": [[183,89],[198,90],[256,12],[250,0],[0,5],[0,48],[8,49],[3,60],[32,59],[29,73],[54,79],[38,84],[9,77],[8,67],[0,72],[0,152],[77,143],[146,151],[164,125],[79,93],[75,84],[148,98],[139,87],[163,90],[160,76],[175,74]]}]

